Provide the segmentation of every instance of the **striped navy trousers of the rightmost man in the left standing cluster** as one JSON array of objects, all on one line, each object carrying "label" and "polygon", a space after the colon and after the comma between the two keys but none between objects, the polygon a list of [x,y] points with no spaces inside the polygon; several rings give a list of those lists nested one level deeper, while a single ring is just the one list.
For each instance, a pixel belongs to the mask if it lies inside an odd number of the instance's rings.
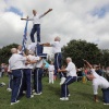
[{"label": "striped navy trousers of the rightmost man in the left standing cluster", "polygon": [[41,78],[43,78],[43,69],[41,68],[36,68],[35,70],[35,92],[38,94],[40,92],[43,92],[43,83],[41,83]]}]

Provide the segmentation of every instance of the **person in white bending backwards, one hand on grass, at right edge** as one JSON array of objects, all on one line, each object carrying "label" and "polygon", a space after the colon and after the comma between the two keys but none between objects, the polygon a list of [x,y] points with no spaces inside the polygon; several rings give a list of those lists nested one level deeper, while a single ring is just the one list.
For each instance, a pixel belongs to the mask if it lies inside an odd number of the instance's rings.
[{"label": "person in white bending backwards, one hand on grass, at right edge", "polygon": [[84,62],[90,68],[90,74],[88,74],[87,77],[93,82],[95,101],[98,102],[97,90],[98,87],[100,87],[102,90],[104,105],[109,105],[109,82],[105,77],[98,75],[86,60],[84,60]]}]

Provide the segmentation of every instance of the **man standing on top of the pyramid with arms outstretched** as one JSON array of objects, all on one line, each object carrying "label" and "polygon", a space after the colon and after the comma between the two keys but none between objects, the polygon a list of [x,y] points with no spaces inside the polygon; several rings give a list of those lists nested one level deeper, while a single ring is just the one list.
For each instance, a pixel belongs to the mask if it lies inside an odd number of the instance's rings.
[{"label": "man standing on top of the pyramid with arms outstretched", "polygon": [[52,9],[49,9],[47,12],[45,12],[44,14],[41,15],[38,15],[37,14],[37,11],[36,10],[33,10],[33,19],[21,19],[21,20],[27,20],[27,21],[33,21],[33,28],[32,28],[32,32],[31,32],[31,40],[32,43],[35,43],[35,38],[34,38],[34,34],[37,32],[37,43],[40,43],[40,19],[43,16],[45,16],[47,13],[49,13],[50,11],[52,11]]}]

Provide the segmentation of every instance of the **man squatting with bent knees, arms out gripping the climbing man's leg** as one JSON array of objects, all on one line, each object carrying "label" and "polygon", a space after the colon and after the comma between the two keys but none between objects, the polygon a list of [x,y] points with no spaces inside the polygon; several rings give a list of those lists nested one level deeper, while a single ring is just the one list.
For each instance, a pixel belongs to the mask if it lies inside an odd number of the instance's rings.
[{"label": "man squatting with bent knees, arms out gripping the climbing man's leg", "polygon": [[68,66],[66,69],[58,70],[58,72],[66,72],[66,78],[64,80],[63,84],[61,85],[61,98],[60,100],[69,100],[70,93],[68,89],[68,85],[76,81],[76,68],[75,64],[72,62],[71,58],[66,58]]}]

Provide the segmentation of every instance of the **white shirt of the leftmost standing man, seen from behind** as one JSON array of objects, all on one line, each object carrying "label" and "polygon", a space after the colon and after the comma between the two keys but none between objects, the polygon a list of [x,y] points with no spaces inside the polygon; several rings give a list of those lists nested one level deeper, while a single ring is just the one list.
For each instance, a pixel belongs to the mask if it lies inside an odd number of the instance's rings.
[{"label": "white shirt of the leftmost standing man, seen from behind", "polygon": [[24,69],[25,61],[26,61],[26,57],[23,57],[19,53],[12,55],[12,57],[9,59],[10,70]]}]

